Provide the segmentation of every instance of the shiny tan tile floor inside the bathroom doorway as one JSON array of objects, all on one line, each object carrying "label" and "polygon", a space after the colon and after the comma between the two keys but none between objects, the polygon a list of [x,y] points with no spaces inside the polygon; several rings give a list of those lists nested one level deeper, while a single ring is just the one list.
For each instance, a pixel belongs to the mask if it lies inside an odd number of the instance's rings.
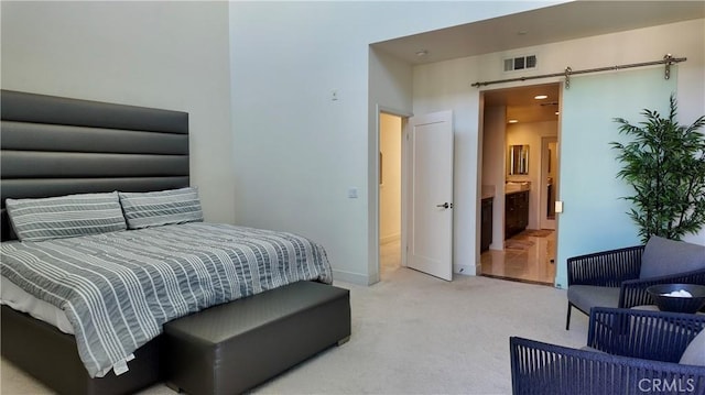
[{"label": "shiny tan tile floor inside the bathroom doorway", "polygon": [[555,277],[555,231],[525,230],[505,240],[505,250],[480,255],[481,274],[553,286]]}]

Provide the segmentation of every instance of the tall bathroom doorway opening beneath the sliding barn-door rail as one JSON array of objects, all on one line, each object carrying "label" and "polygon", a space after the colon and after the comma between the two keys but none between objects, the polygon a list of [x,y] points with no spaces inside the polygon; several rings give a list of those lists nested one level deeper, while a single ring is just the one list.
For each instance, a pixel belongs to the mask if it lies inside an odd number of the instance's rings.
[{"label": "tall bathroom doorway opening beneath the sliding barn-door rail", "polygon": [[561,84],[481,97],[480,273],[553,286]]}]

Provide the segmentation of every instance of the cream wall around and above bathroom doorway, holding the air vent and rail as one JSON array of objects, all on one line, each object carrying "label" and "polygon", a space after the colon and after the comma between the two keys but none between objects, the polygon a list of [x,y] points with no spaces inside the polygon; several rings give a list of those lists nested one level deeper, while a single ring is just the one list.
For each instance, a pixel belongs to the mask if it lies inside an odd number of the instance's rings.
[{"label": "cream wall around and above bathroom doorway, holding the air vent and rail", "polygon": [[[644,43],[649,43],[649,45],[644,45]],[[477,168],[480,165],[477,160],[479,92],[477,88],[470,86],[471,83],[503,78],[499,68],[501,59],[505,56],[528,51],[541,54],[541,68],[533,74],[555,73],[563,70],[566,66],[577,70],[606,65],[657,61],[661,59],[664,54],[671,53],[676,57],[687,57],[687,62],[677,66],[677,96],[680,119],[682,123],[690,123],[703,114],[703,109],[705,109],[704,44],[705,20],[694,20],[415,67],[413,77],[414,113],[453,109],[456,118],[455,202],[458,210],[455,213],[454,259],[459,261],[456,263],[479,264],[478,249],[467,243],[467,240],[476,239],[474,237],[477,229],[478,211],[476,209],[479,208],[479,195],[476,187]],[[527,75],[531,74],[527,73]],[[561,79],[541,80],[541,84],[560,81]],[[490,89],[520,85],[527,84],[501,84],[491,86]],[[596,100],[598,99],[596,98]],[[565,160],[570,158],[562,157],[562,161]],[[460,207],[464,209],[460,210]],[[584,237],[589,235],[585,234]],[[686,240],[705,244],[705,230],[697,235],[686,238]],[[560,239],[558,243],[561,243]],[[558,264],[564,265],[565,262],[558,262]]]}]

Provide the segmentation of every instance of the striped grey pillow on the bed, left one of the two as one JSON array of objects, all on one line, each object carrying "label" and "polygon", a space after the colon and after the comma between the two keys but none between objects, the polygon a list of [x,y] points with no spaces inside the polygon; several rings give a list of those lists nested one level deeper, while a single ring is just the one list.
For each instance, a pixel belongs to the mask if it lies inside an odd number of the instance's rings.
[{"label": "striped grey pillow on the bed, left one of the two", "polygon": [[43,241],[126,230],[118,193],[6,200],[20,241]]}]

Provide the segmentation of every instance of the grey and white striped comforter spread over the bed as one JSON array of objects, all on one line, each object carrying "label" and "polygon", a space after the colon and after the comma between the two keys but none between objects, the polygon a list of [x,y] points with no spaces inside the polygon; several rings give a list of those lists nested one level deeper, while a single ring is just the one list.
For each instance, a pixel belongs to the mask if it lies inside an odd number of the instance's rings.
[{"label": "grey and white striped comforter spread over the bed", "polygon": [[122,364],[171,319],[297,281],[332,283],[321,245],[228,224],[4,242],[1,249],[3,276],[65,311],[91,377]]}]

